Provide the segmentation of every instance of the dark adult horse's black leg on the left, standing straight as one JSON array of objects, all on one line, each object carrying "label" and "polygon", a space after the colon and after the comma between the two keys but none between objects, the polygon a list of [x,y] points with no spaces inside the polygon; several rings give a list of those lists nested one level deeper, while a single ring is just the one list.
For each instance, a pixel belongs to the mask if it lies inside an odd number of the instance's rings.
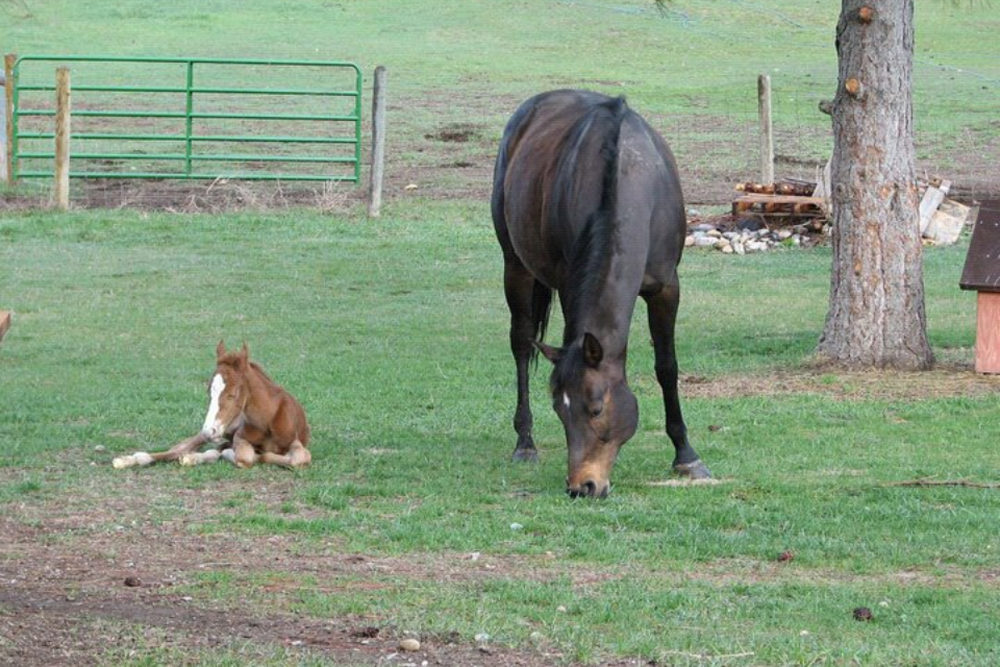
[{"label": "dark adult horse's black leg on the left, standing straight", "polygon": [[518,260],[505,258],[503,287],[507,308],[510,310],[510,350],[517,366],[517,408],[514,411],[517,446],[511,458],[514,461],[537,461],[538,450],[531,437],[534,420],[528,390],[528,365],[535,337],[535,325],[531,317],[535,278]]}]

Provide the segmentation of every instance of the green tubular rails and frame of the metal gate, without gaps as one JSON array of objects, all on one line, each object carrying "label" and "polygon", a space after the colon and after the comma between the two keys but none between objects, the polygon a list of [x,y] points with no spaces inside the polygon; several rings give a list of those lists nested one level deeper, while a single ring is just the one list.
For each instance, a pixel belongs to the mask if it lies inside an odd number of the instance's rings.
[{"label": "green tubular rails and frame of the metal gate, without gaps", "polygon": [[[159,94],[183,95],[183,108],[166,108],[144,110],[128,108],[96,108],[99,105],[88,105],[86,108],[79,108],[72,111],[73,118],[97,118],[97,119],[152,119],[155,124],[163,122],[182,123],[183,131],[139,131],[143,121],[134,123],[134,127],[123,128],[122,131],[91,131],[79,132],[72,135],[74,142],[118,142],[119,147],[123,142],[174,142],[182,145],[183,150],[173,152],[145,152],[144,150],[133,152],[111,151],[77,151],[71,156],[71,168],[69,175],[77,178],[146,178],[146,179],[218,179],[230,178],[236,180],[297,180],[297,181],[352,181],[357,182],[361,171],[361,88],[362,76],[360,68],[354,63],[336,61],[307,61],[307,60],[257,60],[257,59],[223,59],[223,58],[159,58],[159,57],[113,57],[113,56],[56,56],[56,55],[26,55],[18,57],[11,71],[13,79],[13,100],[12,100],[12,125],[11,133],[11,164],[8,165],[11,180],[17,178],[41,178],[51,177],[52,170],[44,169],[22,169],[22,160],[48,160],[54,159],[54,151],[48,150],[23,150],[23,144],[28,142],[37,143],[38,140],[48,140],[55,137],[54,132],[48,131],[26,131],[21,128],[21,121],[28,118],[39,118],[55,116],[55,110],[47,108],[22,108],[22,96],[24,93],[44,93],[56,90],[54,84],[26,85],[21,82],[21,68],[29,62],[51,62],[62,63],[136,63],[148,65],[177,65],[182,67],[184,85],[183,86],[160,86],[160,85],[109,85],[100,83],[74,83],[72,92],[74,98],[82,93],[116,93],[124,95],[123,99],[137,100],[135,96],[146,96],[146,100],[152,99]],[[261,87],[243,88],[226,85],[199,85],[199,66],[205,68],[217,68],[225,66],[235,67],[267,67],[271,68],[320,68],[323,72],[331,72],[337,75],[338,82],[341,80],[347,85],[340,88],[332,87]],[[344,107],[339,113],[332,112],[324,108],[320,112],[293,112],[293,113],[272,113],[272,112],[240,112],[219,110],[213,108],[202,109],[199,106],[199,98],[207,99],[207,96],[215,96],[216,100],[235,99],[238,96],[266,96],[261,99],[281,100],[285,98],[311,98],[313,104],[316,99],[322,98],[345,98],[346,103],[341,103]],[[327,100],[330,101],[330,100]],[[74,102],[74,106],[77,106]],[[140,105],[141,106],[141,105]],[[204,105],[213,106],[213,105]],[[217,106],[217,104],[215,105]],[[324,107],[332,106],[323,104]],[[229,123],[236,125],[240,122],[246,124],[247,121],[261,121],[264,123],[277,125],[285,130],[282,134],[249,134],[239,131],[206,131],[199,125],[211,125]],[[289,126],[300,124],[311,124],[316,130],[319,126],[320,133],[302,133],[289,131]],[[295,153],[282,154],[278,151],[266,152],[257,149],[257,152],[219,152],[199,150],[199,148],[210,148],[211,144],[282,144],[284,148],[289,146],[305,147],[314,144],[324,147],[326,150],[339,154],[315,154]],[[232,150],[232,149],[230,149]],[[143,161],[143,162],[167,162],[182,163],[182,168],[178,170],[74,170],[73,162],[94,161]],[[318,164],[326,165],[334,169],[339,169],[339,173],[302,173],[294,171],[270,171],[258,169],[257,171],[219,172],[198,169],[199,164],[212,163],[243,163],[244,166],[252,163],[257,165],[286,164]]]}]

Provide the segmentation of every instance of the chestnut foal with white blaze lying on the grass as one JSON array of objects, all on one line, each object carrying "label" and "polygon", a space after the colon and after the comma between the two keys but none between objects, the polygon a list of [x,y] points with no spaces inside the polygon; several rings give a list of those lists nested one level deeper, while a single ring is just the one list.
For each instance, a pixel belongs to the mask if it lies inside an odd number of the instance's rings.
[{"label": "chestnut foal with white blaze lying on the grass", "polygon": [[[178,460],[181,465],[197,465],[220,457],[240,468],[258,461],[289,468],[309,465],[309,424],[299,402],[250,361],[246,343],[239,352],[226,352],[225,344],[219,341],[215,356],[208,414],[201,431],[165,452],[118,457],[114,467]],[[221,446],[199,452],[207,442]]]}]

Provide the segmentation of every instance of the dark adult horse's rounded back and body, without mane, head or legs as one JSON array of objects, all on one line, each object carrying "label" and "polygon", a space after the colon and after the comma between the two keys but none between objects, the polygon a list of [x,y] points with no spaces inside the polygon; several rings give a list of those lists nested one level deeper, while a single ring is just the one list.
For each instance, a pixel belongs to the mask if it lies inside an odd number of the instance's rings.
[{"label": "dark adult horse's rounded back and body, without mane, head or legs", "polygon": [[622,98],[541,93],[507,123],[494,173],[494,226],[505,254],[549,287],[561,286],[577,238],[606,201],[609,160],[618,162],[618,217],[647,226],[647,264],[676,265],[684,226],[676,164],[662,137]]}]

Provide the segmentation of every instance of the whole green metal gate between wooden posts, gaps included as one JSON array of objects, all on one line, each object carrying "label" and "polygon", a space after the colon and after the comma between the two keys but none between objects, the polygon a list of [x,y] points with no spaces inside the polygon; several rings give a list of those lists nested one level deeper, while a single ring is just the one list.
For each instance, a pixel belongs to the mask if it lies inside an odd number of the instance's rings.
[{"label": "whole green metal gate between wooden posts, gaps included", "polygon": [[72,68],[71,177],[359,179],[353,63],[52,55],[13,67],[14,179],[53,174],[58,65]]}]

